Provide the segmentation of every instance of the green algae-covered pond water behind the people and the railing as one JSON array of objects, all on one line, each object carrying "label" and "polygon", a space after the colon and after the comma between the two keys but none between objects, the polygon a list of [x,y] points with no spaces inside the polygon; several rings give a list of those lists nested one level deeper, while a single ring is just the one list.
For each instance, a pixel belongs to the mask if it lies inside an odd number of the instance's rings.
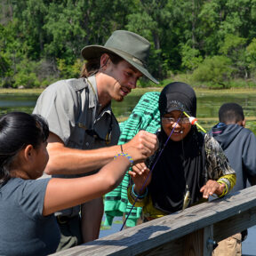
[{"label": "green algae-covered pond water behind the people and the railing", "polygon": [[[203,93],[197,95],[197,118],[206,131],[218,122],[218,111],[225,102],[236,102],[244,108],[244,116],[247,118],[246,127],[256,134],[256,93]],[[0,115],[11,111],[24,111],[32,113],[38,95],[35,94],[0,94]],[[119,121],[124,121],[131,112],[140,96],[129,95],[123,102],[113,102],[113,111]],[[122,227],[122,218],[116,217],[111,228],[101,228],[100,237],[116,233]],[[243,242],[244,255],[256,255],[255,237],[256,226],[248,229],[248,237]]]}]

